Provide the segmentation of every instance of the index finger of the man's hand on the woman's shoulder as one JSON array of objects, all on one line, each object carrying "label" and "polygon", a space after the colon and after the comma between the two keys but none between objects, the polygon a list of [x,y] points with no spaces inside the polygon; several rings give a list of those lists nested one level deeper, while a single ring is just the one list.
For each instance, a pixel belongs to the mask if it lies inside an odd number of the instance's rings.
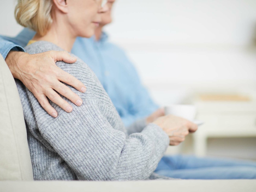
[{"label": "index finger of the man's hand on the woman's shoulder", "polygon": [[84,86],[84,84],[78,79],[76,79],[74,76],[72,76],[71,74],[65,71],[61,70],[60,75],[58,76],[58,79],[64,83],[69,84],[70,86],[74,87],[76,90],[82,93],[86,92],[86,87]]}]

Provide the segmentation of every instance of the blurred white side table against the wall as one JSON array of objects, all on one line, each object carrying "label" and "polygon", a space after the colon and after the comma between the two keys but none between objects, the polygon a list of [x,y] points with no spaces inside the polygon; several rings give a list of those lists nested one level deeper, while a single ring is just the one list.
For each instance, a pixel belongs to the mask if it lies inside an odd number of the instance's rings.
[{"label": "blurred white side table against the wall", "polygon": [[256,102],[197,100],[197,119],[205,122],[194,135],[194,153],[205,156],[208,138],[256,137]]}]

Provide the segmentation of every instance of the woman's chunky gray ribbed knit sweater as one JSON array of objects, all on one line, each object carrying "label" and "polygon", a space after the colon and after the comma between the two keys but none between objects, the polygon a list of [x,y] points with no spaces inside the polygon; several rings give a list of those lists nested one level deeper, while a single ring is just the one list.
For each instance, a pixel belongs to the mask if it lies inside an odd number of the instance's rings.
[{"label": "woman's chunky gray ribbed knit sweater", "polygon": [[[25,50],[36,54],[62,49],[50,42],[38,41]],[[50,102],[58,112],[58,117],[52,118],[22,82],[16,80],[34,179],[154,178],[152,173],[169,143],[167,134],[153,123],[143,130],[139,126],[141,122],[135,123],[126,130],[98,78],[82,60],[78,59],[74,64],[59,61],[56,65],[87,87],[86,93],[80,93],[69,86],[83,100],[79,107],[72,104],[71,113]]]}]

